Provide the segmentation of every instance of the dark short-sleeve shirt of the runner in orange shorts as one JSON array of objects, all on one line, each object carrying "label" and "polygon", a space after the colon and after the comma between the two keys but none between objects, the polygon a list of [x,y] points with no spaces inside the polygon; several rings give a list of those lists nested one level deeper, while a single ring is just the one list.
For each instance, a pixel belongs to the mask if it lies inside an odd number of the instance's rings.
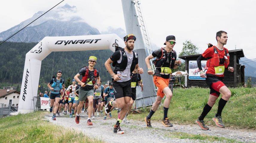
[{"label": "dark short-sleeve shirt of the runner in orange shorts", "polygon": [[[174,51],[174,50],[173,50]],[[166,52],[167,53],[167,52]],[[167,60],[166,60],[166,62],[164,62],[164,64],[163,64],[163,66],[162,67],[170,67],[170,62],[169,62],[169,55],[171,54],[171,52],[170,53],[167,53]],[[156,49],[155,51],[153,51],[153,53],[152,53],[152,56],[153,57],[156,57],[156,59],[160,59],[161,58],[161,56],[162,56],[162,49],[160,48],[160,49]],[[175,57],[175,60],[177,59],[177,54],[176,54],[176,51],[174,51],[174,57]],[[161,68],[156,68],[156,71],[155,71],[155,76],[160,76],[160,77],[162,77],[162,78],[170,78],[170,74],[168,74],[168,75],[162,75],[162,74],[160,74],[161,73]]]}]

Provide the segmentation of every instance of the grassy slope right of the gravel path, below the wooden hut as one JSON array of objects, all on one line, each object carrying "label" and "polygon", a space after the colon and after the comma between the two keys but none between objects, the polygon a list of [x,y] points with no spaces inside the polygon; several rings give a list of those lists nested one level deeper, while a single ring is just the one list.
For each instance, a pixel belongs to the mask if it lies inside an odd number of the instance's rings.
[{"label": "grassy slope right of the gravel path, below the wooden hut", "polygon": [[[226,127],[256,129],[256,88],[231,88],[231,98],[222,112]],[[175,124],[195,124],[209,98],[210,89],[188,88],[174,89],[168,117]],[[206,125],[215,125],[212,117],[217,113],[220,97],[205,117]],[[142,114],[129,114],[128,120],[141,120],[148,115],[150,108],[142,108]],[[112,112],[117,117],[116,111]],[[163,107],[155,112],[152,122],[163,118]]]}]

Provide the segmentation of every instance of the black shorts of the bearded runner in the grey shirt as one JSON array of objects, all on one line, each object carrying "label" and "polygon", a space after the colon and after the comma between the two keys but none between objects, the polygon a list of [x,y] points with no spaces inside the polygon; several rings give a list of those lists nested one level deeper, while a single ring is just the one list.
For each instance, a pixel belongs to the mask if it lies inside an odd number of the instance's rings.
[{"label": "black shorts of the bearded runner in the grey shirt", "polygon": [[131,81],[117,82],[113,81],[115,99],[122,97],[132,97]]}]

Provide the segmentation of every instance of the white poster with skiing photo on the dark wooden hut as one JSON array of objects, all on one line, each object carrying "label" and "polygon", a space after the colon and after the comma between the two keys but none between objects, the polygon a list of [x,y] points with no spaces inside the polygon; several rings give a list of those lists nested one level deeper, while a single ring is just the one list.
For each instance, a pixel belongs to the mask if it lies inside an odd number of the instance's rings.
[{"label": "white poster with skiing photo on the dark wooden hut", "polygon": [[[206,73],[208,69],[208,67],[206,67],[206,61],[201,61],[201,64],[203,71]],[[200,71],[196,61],[188,61],[188,79],[205,80],[205,78],[200,77]]]}]

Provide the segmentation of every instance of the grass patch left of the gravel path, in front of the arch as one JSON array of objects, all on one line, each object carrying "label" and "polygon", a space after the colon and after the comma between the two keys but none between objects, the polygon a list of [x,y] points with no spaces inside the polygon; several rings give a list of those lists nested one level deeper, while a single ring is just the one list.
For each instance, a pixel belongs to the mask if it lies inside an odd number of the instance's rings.
[{"label": "grass patch left of the gravel path, in front of the arch", "polygon": [[29,114],[0,119],[0,142],[77,142],[77,143],[103,143],[95,138],[89,138],[82,132],[64,129],[62,126],[54,125],[48,120],[43,120],[45,112],[37,111]]}]

